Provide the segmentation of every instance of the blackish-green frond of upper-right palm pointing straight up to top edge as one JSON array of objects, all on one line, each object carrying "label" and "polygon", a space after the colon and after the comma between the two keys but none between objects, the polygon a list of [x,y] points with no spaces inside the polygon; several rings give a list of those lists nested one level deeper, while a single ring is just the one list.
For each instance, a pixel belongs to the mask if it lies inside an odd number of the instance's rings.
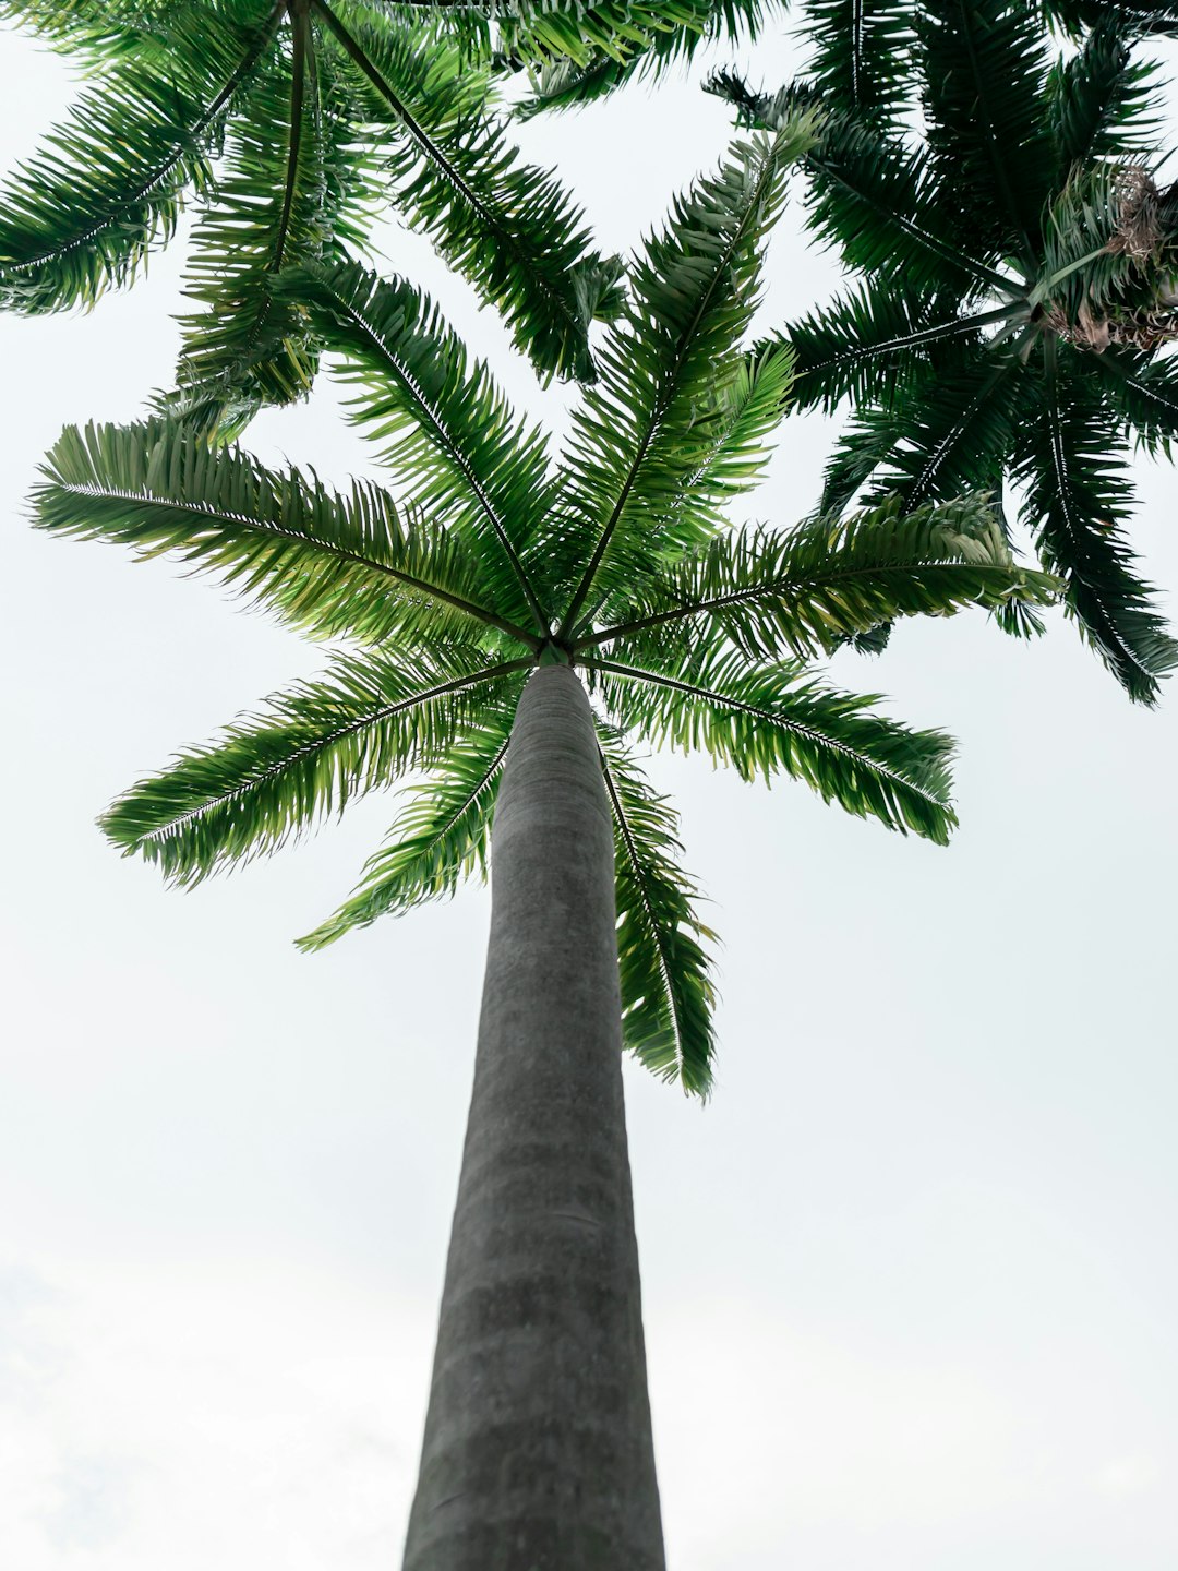
[{"label": "blackish-green frond of upper-right palm pointing straight up to top edge", "polygon": [[931,174],[986,255],[1033,273],[1054,174],[1043,112],[1046,55],[1029,6],[946,0],[920,6],[922,102]]}]

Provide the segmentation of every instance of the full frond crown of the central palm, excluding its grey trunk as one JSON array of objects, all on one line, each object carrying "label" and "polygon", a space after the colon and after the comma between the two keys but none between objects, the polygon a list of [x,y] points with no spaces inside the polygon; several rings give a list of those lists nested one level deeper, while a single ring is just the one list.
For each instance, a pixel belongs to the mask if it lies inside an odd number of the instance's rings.
[{"label": "full frond crown of the central palm, excluding its grey trunk", "polygon": [[627,738],[704,749],[746,779],[784,771],[944,840],[949,738],[872,713],[873,699],[832,690],[807,661],[895,616],[982,605],[1018,625],[1051,594],[1015,570],[985,498],[721,531],[788,399],[792,352],[740,341],[785,165],[810,140],[799,116],[738,143],[675,203],[554,465],[423,295],[355,264],[283,289],[311,303],[401,501],[273,473],[174,419],[63,434],[38,493],[42,526],[176,551],[308,633],[358,646],[135,786],[104,820],[118,845],[193,883],[426,771],[358,891],[302,939],[330,943],[484,864],[526,676],[578,666],[616,815],[627,1043],[707,1089],[710,933],[675,815]]}]

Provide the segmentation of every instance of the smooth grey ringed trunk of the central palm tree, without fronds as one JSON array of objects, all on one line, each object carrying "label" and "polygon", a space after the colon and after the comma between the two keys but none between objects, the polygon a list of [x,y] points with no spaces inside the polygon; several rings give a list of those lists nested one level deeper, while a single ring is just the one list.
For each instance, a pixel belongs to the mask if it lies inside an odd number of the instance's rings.
[{"label": "smooth grey ringed trunk of the central palm tree, without fronds", "polygon": [[405,1571],[663,1571],[592,713],[532,674],[492,837],[466,1145]]}]

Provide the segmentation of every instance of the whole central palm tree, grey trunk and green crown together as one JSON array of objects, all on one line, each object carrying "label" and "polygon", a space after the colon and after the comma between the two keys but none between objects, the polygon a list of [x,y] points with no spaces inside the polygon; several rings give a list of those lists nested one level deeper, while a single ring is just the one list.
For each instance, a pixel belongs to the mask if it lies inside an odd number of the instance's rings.
[{"label": "whole central palm tree, grey trunk and green crown together", "polygon": [[[633,270],[556,467],[423,295],[355,264],[287,276],[401,500],[327,490],[184,421],[66,430],[52,531],[171,551],[316,636],[328,674],[141,781],[110,839],[179,884],[426,773],[305,949],[493,866],[474,1092],[405,1566],[661,1568],[620,1049],[704,1095],[708,930],[633,740],[942,842],[949,740],[807,669],[906,614],[1012,627],[1051,592],[985,498],[721,531],[792,353],[743,352],[806,116],[737,145]],[[591,702],[591,698],[594,702]]]}]

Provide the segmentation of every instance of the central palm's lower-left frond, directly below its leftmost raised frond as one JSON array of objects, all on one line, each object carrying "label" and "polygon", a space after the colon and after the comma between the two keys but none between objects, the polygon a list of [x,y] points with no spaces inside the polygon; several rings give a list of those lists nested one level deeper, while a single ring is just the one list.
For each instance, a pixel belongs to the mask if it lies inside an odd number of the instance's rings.
[{"label": "central palm's lower-left frond, directly below its leftmost raised frond", "polygon": [[182,753],[102,817],[115,845],[193,884],[284,845],[407,770],[441,760],[488,694],[531,661],[477,649],[338,655],[325,677],[275,694],[209,748]]}]

